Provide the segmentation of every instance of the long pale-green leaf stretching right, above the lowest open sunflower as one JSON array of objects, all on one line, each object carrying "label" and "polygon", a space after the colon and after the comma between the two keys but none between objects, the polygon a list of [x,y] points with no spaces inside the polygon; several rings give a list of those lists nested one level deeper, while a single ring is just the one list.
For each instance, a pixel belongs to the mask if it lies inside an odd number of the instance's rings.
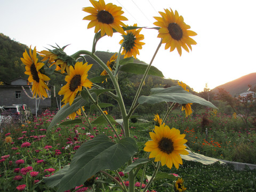
[{"label": "long pale-green leaf stretching right, above the lowest open sunflower", "polygon": [[167,88],[153,88],[150,91],[148,96],[141,96],[138,99],[140,104],[143,103],[160,103],[160,102],[176,102],[180,104],[187,104],[187,103],[199,103],[203,106],[215,107],[211,102],[206,101],[205,99],[198,97],[190,92],[185,91],[181,86],[172,86]]}]

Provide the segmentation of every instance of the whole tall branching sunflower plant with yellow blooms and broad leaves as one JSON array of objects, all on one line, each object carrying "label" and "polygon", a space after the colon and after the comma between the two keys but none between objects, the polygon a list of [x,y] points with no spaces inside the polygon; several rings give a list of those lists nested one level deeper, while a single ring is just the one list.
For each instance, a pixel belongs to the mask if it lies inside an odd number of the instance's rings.
[{"label": "whole tall branching sunflower plant with yellow blooms and broad leaves", "polygon": [[[46,184],[50,187],[58,187],[58,191],[65,191],[76,186],[88,185],[95,190],[95,186],[91,182],[95,175],[101,178],[100,188],[105,191],[105,186],[117,188],[122,191],[135,191],[135,180],[140,174],[141,181],[146,177],[145,170],[147,164],[153,164],[155,171],[151,177],[148,177],[148,183],[142,187],[140,191],[147,191],[151,183],[157,178],[175,179],[173,175],[159,172],[159,167],[166,165],[170,169],[174,165],[177,169],[179,164],[182,164],[182,158],[191,160],[197,159],[204,163],[213,163],[208,159],[202,159],[202,156],[192,154],[187,150],[185,134],[180,134],[178,129],[165,125],[165,119],[174,106],[181,105],[182,110],[186,111],[186,115],[190,115],[192,103],[199,103],[204,106],[213,107],[211,102],[206,101],[196,95],[188,92],[186,84],[182,82],[178,86],[167,88],[153,88],[147,96],[141,95],[140,92],[145,82],[147,75],[155,75],[163,77],[161,71],[156,67],[151,66],[155,56],[162,44],[165,44],[165,49],[173,51],[177,49],[181,55],[181,47],[189,52],[191,45],[196,42],[190,36],[197,35],[194,31],[189,30],[189,26],[183,21],[182,16],[177,11],[165,9],[165,12],[159,12],[161,17],[154,17],[156,22],[155,30],[158,30],[160,38],[159,45],[149,63],[136,63],[133,58],[139,54],[142,49],[144,36],[141,33],[145,27],[126,26],[123,21],[127,19],[122,15],[122,7],[113,5],[112,3],[105,4],[103,0],[90,0],[93,7],[84,7],[83,11],[89,13],[84,20],[90,20],[88,28],[95,27],[95,35],[92,44],[92,51],[81,50],[73,55],[67,55],[64,52],[65,47],[54,47],[36,53],[36,47],[32,51],[31,47],[29,54],[27,51],[23,53],[22,62],[26,65],[25,74],[29,75],[28,81],[33,83],[32,90],[36,97],[47,97],[46,91],[49,87],[47,82],[50,78],[47,76],[52,73],[65,75],[67,82],[61,90],[60,95],[63,95],[63,107],[52,119],[48,130],[67,116],[73,119],[76,114],[83,114],[87,119],[85,126],[94,135],[94,138],[81,145],[76,151],[70,165],[66,165],[63,169],[44,178]],[[150,29],[152,30],[152,29]],[[113,36],[113,33],[121,33],[120,49],[117,54],[104,63],[97,55],[95,55],[97,42],[104,36]],[[189,48],[189,49],[188,49]],[[121,59],[121,55],[124,59]],[[88,71],[92,65],[86,62],[84,55],[89,55],[97,62],[97,65],[102,67],[101,76],[88,78]],[[39,60],[41,58],[41,60]],[[121,90],[118,84],[118,74],[120,71],[124,73],[143,74],[137,93],[134,95],[132,105],[129,110],[126,109],[123,101]],[[109,81],[110,80],[110,81]],[[112,83],[114,89],[105,89],[101,83],[107,81]],[[103,111],[104,108],[113,106],[113,103],[102,103],[99,100],[101,94],[113,98],[121,111],[122,118],[114,119],[113,116]],[[147,152],[145,156],[133,162],[133,157],[138,151],[137,143],[130,135],[129,121],[133,119],[134,110],[143,103],[155,104],[159,102],[171,103],[167,108],[165,116],[161,119],[156,115],[155,121],[158,126],[155,126],[153,132],[150,132],[151,140],[145,143],[144,150]],[[90,105],[90,109],[98,109],[101,116],[94,121],[90,121],[90,111],[84,111],[83,106]],[[154,113],[154,112],[153,112]],[[62,125],[84,123],[81,119],[73,119]],[[114,132],[114,139],[110,140],[107,135],[97,135],[94,133],[93,125],[106,123]],[[119,134],[122,131],[124,137],[121,139]],[[154,162],[157,162],[156,164]],[[129,173],[129,182],[124,182],[118,173],[118,169],[123,169],[124,173]],[[142,171],[140,171],[143,168]],[[103,181],[103,178],[110,178],[113,183]],[[107,183],[107,184],[106,184]],[[129,184],[127,184],[129,183]],[[143,189],[142,189],[143,188]],[[183,180],[179,179],[174,185],[174,189],[184,191],[186,188],[183,185]]]}]

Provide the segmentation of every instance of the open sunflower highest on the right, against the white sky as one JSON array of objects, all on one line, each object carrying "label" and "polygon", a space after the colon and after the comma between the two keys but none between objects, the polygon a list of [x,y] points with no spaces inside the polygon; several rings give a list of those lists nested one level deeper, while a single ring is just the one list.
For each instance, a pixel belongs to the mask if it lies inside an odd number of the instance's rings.
[{"label": "open sunflower highest on the right, against the white sky", "polygon": [[157,21],[154,25],[161,27],[157,37],[163,39],[162,43],[165,44],[165,49],[169,49],[170,52],[175,48],[181,56],[181,47],[189,52],[188,47],[192,50],[191,45],[196,45],[194,39],[189,36],[197,35],[194,31],[188,30],[190,26],[186,25],[183,21],[183,17],[179,16],[179,13],[175,13],[171,10],[164,9],[164,12],[159,12],[162,17],[154,17]]}]

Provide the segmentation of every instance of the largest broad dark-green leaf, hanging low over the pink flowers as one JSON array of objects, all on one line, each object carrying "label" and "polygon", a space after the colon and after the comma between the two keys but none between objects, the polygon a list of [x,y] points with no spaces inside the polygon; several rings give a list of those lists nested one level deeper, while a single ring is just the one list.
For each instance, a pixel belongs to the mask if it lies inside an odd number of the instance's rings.
[{"label": "largest broad dark-green leaf, hanging low over the pink flowers", "polygon": [[99,171],[119,169],[137,153],[137,150],[136,142],[132,138],[123,138],[118,143],[114,143],[107,135],[98,135],[77,149],[63,177],[60,175],[54,183],[49,177],[46,183],[58,186],[57,192],[69,190],[81,185]]}]

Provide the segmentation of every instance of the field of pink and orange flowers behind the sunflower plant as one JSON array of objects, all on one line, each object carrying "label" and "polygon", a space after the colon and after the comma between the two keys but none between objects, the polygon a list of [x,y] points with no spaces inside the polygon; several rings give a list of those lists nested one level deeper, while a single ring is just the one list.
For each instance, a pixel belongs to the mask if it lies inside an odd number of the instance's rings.
[{"label": "field of pink and orange flowers behind the sunflower plant", "polygon": [[[55,112],[45,111],[42,115],[34,118],[34,121],[20,125],[13,124],[4,129],[1,134],[1,191],[55,191],[54,188],[45,185],[42,181],[43,177],[51,177],[54,172],[69,164],[82,143],[94,138],[83,124],[57,125],[47,132],[47,125],[54,115]],[[195,118],[170,116],[166,124],[170,127],[179,127],[181,133],[186,134],[185,139],[188,140],[188,146],[197,153],[229,161],[256,164],[255,129],[244,129],[241,121],[233,116],[209,113],[206,138],[205,132],[201,133],[203,116],[205,114]],[[95,118],[97,115],[93,114],[90,120],[93,121]],[[150,119],[148,120],[150,121]],[[145,153],[143,147],[149,140],[148,133],[153,125],[154,121],[131,123],[131,134],[137,140],[139,147],[138,156]],[[95,125],[93,130],[96,135],[106,134],[113,140],[116,137],[113,130],[103,124]],[[117,127],[116,131],[122,138],[121,129]],[[187,191],[237,191],[238,188],[239,191],[254,191],[256,186],[256,170],[235,171],[231,166],[219,163],[203,165],[185,160],[181,167],[182,169],[177,170],[173,166],[170,170],[166,166],[162,166],[159,171],[178,174],[185,180]],[[148,166],[146,174],[152,171],[151,168]],[[129,183],[127,174],[123,173],[124,170],[117,171],[125,181],[124,185]],[[107,183],[114,183],[113,181],[119,180],[119,178],[111,180],[106,177],[107,174],[105,172],[98,173],[91,179],[92,183],[102,185],[102,188],[105,186],[105,191],[110,191]],[[139,189],[141,185],[143,189],[147,180],[145,183],[144,181],[139,182],[139,177],[135,187]],[[224,177],[225,182],[220,181],[219,177]],[[154,182],[149,191],[170,191],[170,187],[169,189],[166,186],[163,187],[163,183],[167,186],[171,185],[168,183],[168,178],[165,178],[159,183],[158,181]],[[93,189],[88,185],[77,186],[73,189],[73,191],[75,190],[91,191]],[[118,189],[111,191],[118,191]]]}]

